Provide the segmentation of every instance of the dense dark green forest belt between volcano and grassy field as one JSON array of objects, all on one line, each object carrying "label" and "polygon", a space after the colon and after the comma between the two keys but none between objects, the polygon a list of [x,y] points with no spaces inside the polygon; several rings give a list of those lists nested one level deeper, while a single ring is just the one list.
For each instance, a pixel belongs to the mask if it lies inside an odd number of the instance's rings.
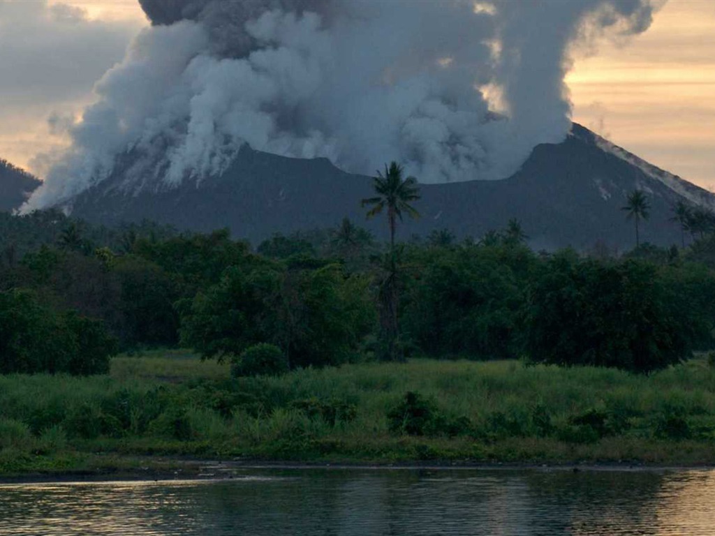
[{"label": "dense dark green forest belt between volcano and grassy field", "polygon": [[650,372],[711,346],[711,227],[619,255],[533,252],[527,233],[513,219],[390,245],[345,219],[252,247],[227,230],[0,214],[0,372],[101,373],[115,352],[177,346],[235,374],[413,356]]}]

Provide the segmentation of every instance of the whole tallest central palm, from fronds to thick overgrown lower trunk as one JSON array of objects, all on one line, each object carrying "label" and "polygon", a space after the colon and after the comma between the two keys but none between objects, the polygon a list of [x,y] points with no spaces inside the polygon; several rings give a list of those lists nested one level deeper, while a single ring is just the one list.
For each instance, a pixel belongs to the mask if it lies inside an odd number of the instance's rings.
[{"label": "whole tallest central palm, from fronds to thick overgrown lower trunk", "polygon": [[397,261],[395,259],[395,230],[397,229],[398,218],[403,220],[403,212],[412,218],[420,217],[415,207],[410,203],[420,199],[417,179],[415,177],[403,178],[403,168],[397,162],[391,162],[390,167],[385,164],[385,174],[378,171],[378,176],[374,178],[373,188],[375,197],[363,199],[362,206],[372,207],[368,211],[368,218],[375,217],[386,209],[388,213],[388,226],[390,227],[390,274],[383,280],[380,288],[381,307],[384,327],[383,336],[386,344],[386,357],[391,360],[402,359],[398,355],[398,337],[400,326],[398,321],[398,273]]}]

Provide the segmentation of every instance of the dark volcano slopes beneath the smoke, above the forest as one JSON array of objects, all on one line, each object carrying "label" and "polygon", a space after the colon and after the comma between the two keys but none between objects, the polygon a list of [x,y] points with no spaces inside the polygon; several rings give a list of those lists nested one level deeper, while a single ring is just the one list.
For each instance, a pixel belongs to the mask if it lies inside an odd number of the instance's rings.
[{"label": "dark volcano slopes beneath the smoke, above the forest", "polygon": [[[73,214],[115,224],[144,218],[180,229],[230,227],[235,237],[260,241],[274,232],[331,227],[350,217],[386,236],[382,219],[365,222],[360,199],[370,177],[347,174],[327,159],[290,159],[243,149],[221,177],[204,177],[175,189],[127,189],[117,173],[72,202]],[[669,222],[679,199],[715,206],[715,197],[580,126],[561,144],[535,149],[521,169],[501,181],[422,184],[415,205],[423,215],[400,226],[402,238],[447,228],[458,237],[480,237],[518,218],[536,249],[571,245],[587,249],[597,241],[633,245],[633,227],[621,207],[626,194],[642,189],[651,219],[641,237],[654,244],[679,242]]]}]

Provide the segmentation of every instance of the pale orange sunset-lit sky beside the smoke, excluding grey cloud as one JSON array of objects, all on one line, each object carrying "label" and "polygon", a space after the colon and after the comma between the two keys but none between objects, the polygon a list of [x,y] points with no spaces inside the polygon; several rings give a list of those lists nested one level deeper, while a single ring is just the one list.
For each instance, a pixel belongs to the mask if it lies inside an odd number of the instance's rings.
[{"label": "pale orange sunset-lit sky beside the smoke, excluding grey cloud", "polygon": [[[89,19],[148,24],[137,0],[50,0],[82,7]],[[715,0],[669,0],[651,28],[628,41],[603,41],[566,77],[573,120],[652,164],[715,189]],[[109,66],[107,66],[109,68]],[[78,101],[76,111],[92,99]],[[0,156],[27,166],[29,141],[45,121],[11,139]],[[54,146],[60,142],[54,140]],[[44,148],[42,148],[44,149]]]}]

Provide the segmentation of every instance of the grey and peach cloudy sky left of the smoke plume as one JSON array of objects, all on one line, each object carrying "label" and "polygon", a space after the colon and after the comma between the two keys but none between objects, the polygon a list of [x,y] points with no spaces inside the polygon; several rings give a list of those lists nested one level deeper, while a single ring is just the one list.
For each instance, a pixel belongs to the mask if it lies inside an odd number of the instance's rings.
[{"label": "grey and peach cloudy sky left of the smoke plume", "polygon": [[122,59],[141,24],[90,20],[64,3],[0,0],[0,157],[26,162],[49,134],[47,119],[89,104],[94,82]]}]

